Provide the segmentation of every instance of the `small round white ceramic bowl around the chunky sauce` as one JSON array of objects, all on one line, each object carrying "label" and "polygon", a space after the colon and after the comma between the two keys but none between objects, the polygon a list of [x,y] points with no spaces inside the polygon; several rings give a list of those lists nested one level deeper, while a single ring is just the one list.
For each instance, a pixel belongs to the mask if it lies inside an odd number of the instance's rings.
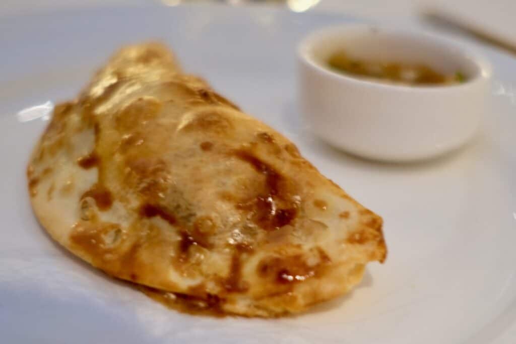
[{"label": "small round white ceramic bowl around the chunky sauce", "polygon": [[[401,85],[334,71],[329,59],[424,64],[462,83]],[[315,134],[369,159],[420,160],[459,148],[486,110],[491,67],[473,53],[426,34],[346,25],[316,31],[298,47],[299,103]]]}]

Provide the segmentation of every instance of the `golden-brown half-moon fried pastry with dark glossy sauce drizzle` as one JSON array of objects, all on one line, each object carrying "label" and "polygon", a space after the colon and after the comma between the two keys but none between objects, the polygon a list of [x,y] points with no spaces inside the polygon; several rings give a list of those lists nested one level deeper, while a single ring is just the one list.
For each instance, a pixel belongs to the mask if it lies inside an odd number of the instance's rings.
[{"label": "golden-brown half-moon fried pastry with dark glossy sauce drizzle", "polygon": [[55,108],[27,176],[68,250],[224,313],[299,312],[386,254],[379,216],[156,43],[123,48]]}]

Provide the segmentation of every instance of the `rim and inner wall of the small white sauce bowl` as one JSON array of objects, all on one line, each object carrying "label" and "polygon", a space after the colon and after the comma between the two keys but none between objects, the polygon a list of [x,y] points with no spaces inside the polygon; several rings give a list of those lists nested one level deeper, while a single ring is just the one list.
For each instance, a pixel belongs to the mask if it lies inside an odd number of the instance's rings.
[{"label": "rim and inner wall of the small white sauce bowl", "polygon": [[[366,32],[367,34],[363,35],[363,32]],[[342,39],[349,34],[351,34],[350,36],[357,34],[357,37],[354,37],[351,40]],[[379,41],[383,47],[374,47],[375,40],[367,41],[368,38],[375,36],[377,38],[376,43]],[[359,40],[362,41],[359,42]],[[400,44],[400,42],[404,43]],[[443,74],[451,74],[451,72],[460,71],[464,76],[464,82],[447,85],[409,85],[404,83],[389,83],[374,78],[356,77],[347,73],[341,73],[333,70],[328,65],[330,56],[338,52],[350,52],[352,56],[356,58],[357,56],[354,56],[354,48],[356,48],[357,45],[359,45],[359,55],[361,55],[358,56],[358,58],[365,60],[377,59],[381,61],[390,60],[409,64],[426,64],[441,73],[443,73],[442,66],[438,66],[436,64],[446,64],[446,62],[448,62],[448,66],[445,68],[448,70],[448,73],[444,71]],[[371,46],[374,48],[371,49]],[[413,49],[411,48],[412,46],[419,47],[419,49]],[[400,49],[396,51],[396,48]],[[423,48],[423,51],[420,51],[421,48]],[[424,50],[429,50],[431,54],[424,56],[424,58],[414,57],[414,55],[424,55]],[[378,58],[379,54],[381,58]],[[407,31],[404,29],[385,27],[380,28],[370,24],[346,24],[323,28],[312,32],[312,34],[305,37],[299,44],[298,56],[302,63],[309,63],[312,67],[319,69],[321,72],[326,73],[331,77],[354,80],[357,81],[357,83],[365,84],[366,86],[395,87],[412,91],[440,91],[443,89],[449,90],[450,88],[461,88],[471,83],[481,81],[482,79],[489,78],[492,74],[491,66],[488,61],[471,50],[464,50],[458,47],[456,42],[450,39],[430,34],[426,31]],[[435,58],[436,56],[437,58]],[[410,58],[407,59],[407,57]]]}]

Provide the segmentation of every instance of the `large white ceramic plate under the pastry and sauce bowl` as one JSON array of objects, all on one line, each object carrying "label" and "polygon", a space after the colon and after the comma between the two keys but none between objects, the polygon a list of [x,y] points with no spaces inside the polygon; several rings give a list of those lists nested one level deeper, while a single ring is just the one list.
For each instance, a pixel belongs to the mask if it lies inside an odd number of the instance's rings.
[{"label": "large white ceramic plate under the pastry and sauce bowl", "polygon": [[[0,21],[3,343],[491,343],[516,320],[516,61],[485,51],[493,105],[460,152],[418,165],[359,160],[298,117],[295,44],[345,22],[266,8],[141,7]],[[120,45],[168,42],[187,70],[285,133],[385,220],[389,257],[349,296],[293,318],[176,313],[60,249],[31,213],[25,165],[45,122],[16,113],[73,97]],[[422,104],[431,106],[431,104]]]}]

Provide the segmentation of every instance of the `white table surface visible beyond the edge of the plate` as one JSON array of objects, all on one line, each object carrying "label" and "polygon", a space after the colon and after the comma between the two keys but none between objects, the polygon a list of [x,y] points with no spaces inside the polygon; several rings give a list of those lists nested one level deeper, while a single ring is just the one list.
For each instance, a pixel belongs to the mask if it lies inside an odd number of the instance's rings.
[{"label": "white table surface visible beyond the edge of the plate", "polygon": [[[172,0],[163,0],[163,2]],[[233,0],[244,2],[243,0]],[[177,2],[177,0],[174,0]],[[182,0],[182,3],[188,3]],[[229,0],[231,2],[231,0]],[[159,3],[158,0],[2,0],[0,20],[4,15],[49,11],[56,8],[138,5]],[[515,0],[320,0],[310,9],[316,12],[343,13],[389,24],[421,25],[418,13],[426,8],[441,8],[454,16],[477,25],[485,25],[492,32],[512,36],[516,32]],[[514,35],[516,40],[516,35]],[[502,315],[503,317],[503,315]],[[512,319],[506,319],[510,322]],[[502,321],[503,322],[503,321]],[[516,323],[510,326],[496,343],[513,344],[516,342]]]}]

